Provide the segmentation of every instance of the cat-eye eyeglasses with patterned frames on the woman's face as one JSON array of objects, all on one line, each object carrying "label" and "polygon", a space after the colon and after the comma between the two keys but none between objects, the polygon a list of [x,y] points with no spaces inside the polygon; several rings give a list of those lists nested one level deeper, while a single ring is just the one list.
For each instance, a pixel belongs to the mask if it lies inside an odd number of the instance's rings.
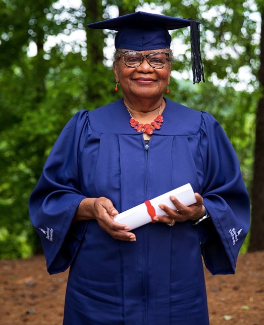
[{"label": "cat-eye eyeglasses with patterned frames on the woman's face", "polygon": [[152,52],[144,55],[138,51],[122,51],[121,55],[127,67],[139,67],[143,60],[146,59],[150,67],[155,69],[164,68],[170,56],[167,52]]}]

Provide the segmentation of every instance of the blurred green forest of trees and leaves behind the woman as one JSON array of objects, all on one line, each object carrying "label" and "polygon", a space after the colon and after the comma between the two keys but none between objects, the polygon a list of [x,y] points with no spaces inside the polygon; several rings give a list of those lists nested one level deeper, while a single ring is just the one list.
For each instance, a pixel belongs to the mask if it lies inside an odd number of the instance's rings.
[{"label": "blurred green forest of trees and leaves behind the woman", "polygon": [[0,0],[0,258],[41,250],[28,199],[66,122],[122,96],[114,90],[113,32],[86,24],[137,10],[201,22],[206,82],[192,84],[188,29],[174,31],[166,96],[224,127],[251,197],[242,252],[264,250],[263,0]]}]

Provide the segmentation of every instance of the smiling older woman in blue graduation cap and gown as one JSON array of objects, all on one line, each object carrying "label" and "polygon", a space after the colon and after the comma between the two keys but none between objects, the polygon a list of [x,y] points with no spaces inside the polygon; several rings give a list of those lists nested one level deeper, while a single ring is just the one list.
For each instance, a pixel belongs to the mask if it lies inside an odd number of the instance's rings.
[{"label": "smiling older woman in blue graduation cap and gown", "polygon": [[[29,205],[49,273],[71,265],[64,324],[206,325],[201,254],[213,274],[235,271],[250,211],[234,149],[210,114],[163,96],[168,29],[190,24],[195,35],[197,22],[138,12],[88,25],[118,30],[123,99],[68,122]],[[114,221],[188,182],[195,204],[171,197],[175,209],[133,231]]]}]

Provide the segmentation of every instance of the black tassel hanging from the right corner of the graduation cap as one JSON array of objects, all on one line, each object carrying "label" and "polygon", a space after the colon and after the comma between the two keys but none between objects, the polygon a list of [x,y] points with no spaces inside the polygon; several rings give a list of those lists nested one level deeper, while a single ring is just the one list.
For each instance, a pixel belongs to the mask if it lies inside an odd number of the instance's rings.
[{"label": "black tassel hanging from the right corner of the graduation cap", "polygon": [[203,65],[200,49],[200,29],[199,25],[193,19],[190,20],[190,37],[191,37],[191,53],[192,53],[192,74],[193,84],[204,82]]}]

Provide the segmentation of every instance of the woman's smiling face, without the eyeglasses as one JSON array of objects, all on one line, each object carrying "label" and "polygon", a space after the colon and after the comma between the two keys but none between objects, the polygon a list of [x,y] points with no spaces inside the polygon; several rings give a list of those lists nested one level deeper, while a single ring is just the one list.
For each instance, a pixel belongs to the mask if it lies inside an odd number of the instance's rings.
[{"label": "woman's smiling face, without the eyeglasses", "polygon": [[[128,50],[122,50],[128,51]],[[154,52],[168,52],[162,50],[139,51],[144,55]],[[135,68],[128,67],[122,56],[114,62],[116,80],[120,83],[124,97],[136,96],[137,98],[161,97],[170,82],[171,64],[167,61],[162,69],[151,67],[146,58]]]}]

